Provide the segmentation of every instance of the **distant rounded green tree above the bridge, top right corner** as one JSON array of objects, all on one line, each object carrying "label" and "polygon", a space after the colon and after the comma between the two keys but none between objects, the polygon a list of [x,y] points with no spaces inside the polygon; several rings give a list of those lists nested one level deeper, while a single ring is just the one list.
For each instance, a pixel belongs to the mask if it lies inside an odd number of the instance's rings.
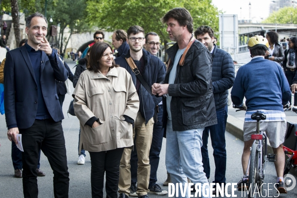
[{"label": "distant rounded green tree above the bridge, top right corner", "polygon": [[273,12],[262,23],[297,23],[297,9],[294,7],[283,7]]}]

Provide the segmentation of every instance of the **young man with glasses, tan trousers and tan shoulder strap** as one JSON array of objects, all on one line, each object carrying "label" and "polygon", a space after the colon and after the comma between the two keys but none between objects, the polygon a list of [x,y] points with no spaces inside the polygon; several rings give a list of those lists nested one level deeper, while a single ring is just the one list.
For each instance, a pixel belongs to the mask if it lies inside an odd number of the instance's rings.
[{"label": "young man with glasses, tan trousers and tan shoulder strap", "polygon": [[[131,26],[128,31],[128,44],[130,50],[115,59],[116,64],[124,67],[132,76],[140,100],[140,108],[133,128],[135,138],[134,149],[137,150],[137,196],[148,198],[148,185],[150,176],[149,149],[152,141],[155,107],[160,103],[161,98],[152,96],[144,84],[136,77],[130,68],[127,59],[132,58],[143,79],[150,88],[154,83],[162,83],[165,77],[163,62],[156,56],[151,55],[143,49],[146,42],[145,31],[142,27]],[[120,163],[119,198],[128,198],[131,186],[130,158],[131,148],[125,148]],[[132,192],[133,193],[133,192]]]}]

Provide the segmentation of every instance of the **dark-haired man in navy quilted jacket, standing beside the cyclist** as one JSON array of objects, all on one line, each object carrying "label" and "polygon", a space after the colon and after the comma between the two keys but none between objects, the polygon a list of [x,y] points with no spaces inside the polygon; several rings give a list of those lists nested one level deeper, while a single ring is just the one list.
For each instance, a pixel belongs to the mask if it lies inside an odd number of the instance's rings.
[{"label": "dark-haired man in navy quilted jacket, standing beside the cyclist", "polygon": [[[208,136],[210,132],[211,145],[215,163],[215,174],[213,183],[226,184],[226,142],[225,130],[228,117],[228,90],[234,83],[234,64],[231,55],[218,49],[214,42],[213,30],[209,26],[200,26],[195,31],[195,37],[212,54],[212,89],[217,114],[218,124],[205,127],[202,135],[202,162],[207,179],[210,175],[208,158]],[[216,189],[216,188],[215,188]]]}]

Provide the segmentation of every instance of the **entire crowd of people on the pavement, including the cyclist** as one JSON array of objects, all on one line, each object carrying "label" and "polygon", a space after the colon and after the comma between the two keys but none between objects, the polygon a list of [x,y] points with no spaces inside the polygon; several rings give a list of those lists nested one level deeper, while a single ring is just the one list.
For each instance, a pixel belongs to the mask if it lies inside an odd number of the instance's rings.
[{"label": "entire crowd of people on the pavement, including the cyclist", "polygon": [[[168,11],[161,21],[167,26],[170,40],[176,42],[166,50],[166,63],[156,57],[161,45],[159,36],[154,32],[145,34],[142,27],[132,25],[127,31],[113,32],[116,58],[112,46],[104,42],[104,33],[95,32],[94,42],[82,53],[72,74],[60,59],[59,50],[52,49],[46,39],[45,16],[37,12],[26,18],[28,40],[6,53],[2,82],[7,137],[12,147],[18,143],[17,134],[22,135],[24,151],[15,154],[22,166],[14,168],[15,177],[23,178],[25,198],[38,197],[37,176],[45,175],[39,167],[41,150],[53,170],[54,197],[68,198],[69,172],[61,125],[68,78],[75,88],[73,108],[80,127],[77,163],[84,164],[85,151],[89,151],[93,198],[103,197],[104,174],[107,198],[117,198],[118,193],[119,198],[168,194],[156,184],[163,137],[167,169],[163,185],[206,184],[202,195],[216,193],[217,186],[226,184],[225,129],[228,90],[232,86],[233,103],[247,110],[244,174],[250,135],[255,132],[250,115],[261,110],[271,118],[260,127],[278,154],[276,186],[280,193],[287,193],[282,172],[284,105],[291,98],[290,86],[292,93],[297,91],[297,76],[291,73],[296,74],[297,57],[292,52],[296,51],[296,38],[289,40],[293,50],[286,50],[284,58],[273,32],[267,33],[267,39],[250,38],[252,60],[239,69],[235,78],[231,55],[217,48],[210,26],[194,30],[190,12],[178,7]],[[278,64],[283,60],[286,75]],[[267,75],[272,82],[265,82]],[[292,79],[291,83],[286,77]],[[211,171],[209,136],[215,161],[216,186],[212,192],[207,185]],[[241,184],[248,184],[247,178],[244,175],[239,189]]]}]

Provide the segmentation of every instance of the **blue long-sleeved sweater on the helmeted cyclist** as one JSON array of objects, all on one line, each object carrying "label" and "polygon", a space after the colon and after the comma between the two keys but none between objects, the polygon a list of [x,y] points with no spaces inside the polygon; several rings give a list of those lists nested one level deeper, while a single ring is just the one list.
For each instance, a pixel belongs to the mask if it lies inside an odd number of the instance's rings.
[{"label": "blue long-sleeved sweater on the helmeted cyclist", "polygon": [[247,110],[265,109],[284,111],[283,105],[291,97],[288,80],[281,66],[258,57],[239,68],[231,91],[235,105],[246,97]]}]

